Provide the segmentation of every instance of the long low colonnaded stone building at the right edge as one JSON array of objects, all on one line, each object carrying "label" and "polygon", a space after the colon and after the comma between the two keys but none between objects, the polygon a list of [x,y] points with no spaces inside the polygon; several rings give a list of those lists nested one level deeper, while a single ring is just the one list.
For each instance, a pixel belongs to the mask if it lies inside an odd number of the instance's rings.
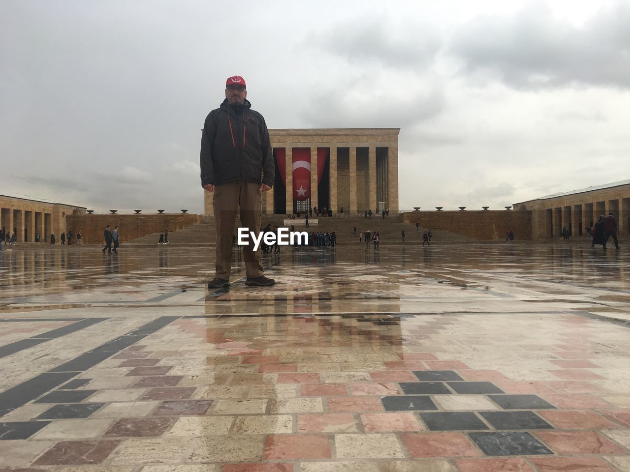
[{"label": "long low colonnaded stone building at the right edge", "polygon": [[558,238],[566,227],[572,236],[586,235],[598,216],[612,213],[617,234],[630,234],[630,180],[557,193],[514,204],[532,212],[532,239]]}]

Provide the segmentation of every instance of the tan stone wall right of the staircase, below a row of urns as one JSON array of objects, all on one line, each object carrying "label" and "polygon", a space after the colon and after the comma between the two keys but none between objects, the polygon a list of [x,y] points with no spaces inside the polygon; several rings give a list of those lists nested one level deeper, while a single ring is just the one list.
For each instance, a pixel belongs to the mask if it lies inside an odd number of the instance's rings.
[{"label": "tan stone wall right of the staircase, below a row of urns", "polygon": [[431,230],[447,230],[470,238],[492,241],[505,239],[508,229],[515,239],[532,239],[532,212],[512,210],[481,211],[410,211],[403,213],[404,222],[420,222]]}]

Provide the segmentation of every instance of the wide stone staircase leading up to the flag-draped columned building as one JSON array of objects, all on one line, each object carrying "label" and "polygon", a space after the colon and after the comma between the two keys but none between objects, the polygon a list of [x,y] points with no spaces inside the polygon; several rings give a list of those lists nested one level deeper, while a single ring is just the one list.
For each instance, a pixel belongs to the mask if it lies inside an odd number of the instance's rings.
[{"label": "wide stone staircase leading up to the flag-draped columned building", "polygon": [[[284,224],[286,215],[263,215],[262,226],[265,227],[268,223],[273,226],[289,227]],[[312,224],[312,220],[317,219],[318,224]],[[329,232],[333,231],[337,236],[337,244],[357,244],[358,233],[369,230],[370,232],[377,231],[381,237],[382,243],[401,243],[401,231],[404,229],[405,242],[422,244],[422,233],[427,231],[427,228],[420,227],[420,231],[416,231],[415,225],[411,223],[404,223],[402,216],[386,216],[383,220],[381,216],[372,218],[364,218],[364,216],[332,216],[332,217],[312,217],[311,227],[308,231],[314,232]],[[306,231],[307,228],[304,224],[299,224],[303,220],[292,220],[295,225],[295,231]],[[236,218],[236,227],[239,225],[238,216]],[[357,227],[357,234],[354,234],[353,228]],[[474,242],[476,240],[452,233],[445,230],[432,230],[433,238],[431,244],[434,243],[451,243],[451,242]],[[149,235],[142,236],[138,239],[134,239],[129,244],[157,244],[160,233],[151,233]],[[216,240],[214,216],[205,216],[202,222],[198,225],[183,228],[179,231],[168,233],[169,245],[171,244],[214,244]]]}]

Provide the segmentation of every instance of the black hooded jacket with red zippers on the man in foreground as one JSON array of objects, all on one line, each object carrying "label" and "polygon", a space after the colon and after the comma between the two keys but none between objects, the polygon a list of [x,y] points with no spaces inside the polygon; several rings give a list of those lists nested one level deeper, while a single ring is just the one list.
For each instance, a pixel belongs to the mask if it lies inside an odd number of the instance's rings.
[{"label": "black hooded jacket with red zippers on the man in foreground", "polygon": [[236,181],[273,186],[269,131],[265,118],[251,110],[248,100],[236,112],[227,98],[210,111],[203,125],[200,164],[202,186]]}]

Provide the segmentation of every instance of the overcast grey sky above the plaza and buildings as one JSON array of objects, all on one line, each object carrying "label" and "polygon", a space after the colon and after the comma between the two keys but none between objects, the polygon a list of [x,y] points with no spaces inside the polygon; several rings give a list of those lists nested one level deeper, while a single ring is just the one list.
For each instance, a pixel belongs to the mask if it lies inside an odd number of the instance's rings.
[{"label": "overcast grey sky above the plaza and buildings", "polygon": [[630,178],[630,0],[0,0],[0,194],[203,212],[200,128],[399,127],[401,210]]}]

